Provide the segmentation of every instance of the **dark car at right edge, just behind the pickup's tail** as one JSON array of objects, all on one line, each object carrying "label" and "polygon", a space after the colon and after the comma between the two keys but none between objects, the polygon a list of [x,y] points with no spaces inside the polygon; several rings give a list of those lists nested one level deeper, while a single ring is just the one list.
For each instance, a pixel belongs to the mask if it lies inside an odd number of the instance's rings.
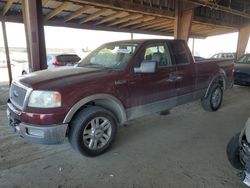
[{"label": "dark car at right edge, just behind the pickup's tail", "polygon": [[245,54],[235,62],[234,83],[250,85],[250,54]]}]

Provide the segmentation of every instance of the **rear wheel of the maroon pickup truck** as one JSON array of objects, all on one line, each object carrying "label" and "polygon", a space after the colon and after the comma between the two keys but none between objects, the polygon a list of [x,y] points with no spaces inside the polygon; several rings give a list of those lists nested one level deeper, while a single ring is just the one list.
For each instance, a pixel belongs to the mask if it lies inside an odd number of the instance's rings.
[{"label": "rear wheel of the maroon pickup truck", "polygon": [[222,100],[223,90],[221,85],[214,83],[210,87],[207,97],[201,99],[201,104],[204,110],[212,112],[220,108]]}]

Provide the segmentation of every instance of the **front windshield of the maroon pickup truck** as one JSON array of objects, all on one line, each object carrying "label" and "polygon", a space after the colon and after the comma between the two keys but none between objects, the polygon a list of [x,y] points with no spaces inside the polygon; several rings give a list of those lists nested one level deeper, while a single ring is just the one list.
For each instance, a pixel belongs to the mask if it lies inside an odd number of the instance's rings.
[{"label": "front windshield of the maroon pickup truck", "polygon": [[138,44],[135,43],[103,45],[83,59],[78,67],[122,69],[127,65],[137,47]]}]

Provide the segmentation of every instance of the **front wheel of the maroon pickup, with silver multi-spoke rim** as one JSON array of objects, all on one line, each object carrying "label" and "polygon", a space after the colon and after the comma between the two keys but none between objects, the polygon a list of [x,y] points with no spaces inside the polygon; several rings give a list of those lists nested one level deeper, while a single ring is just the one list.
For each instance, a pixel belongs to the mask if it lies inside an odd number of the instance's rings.
[{"label": "front wheel of the maroon pickup, with silver multi-spoke rim", "polygon": [[116,119],[110,111],[89,106],[79,111],[71,121],[68,138],[76,151],[94,157],[110,148],[116,131]]}]

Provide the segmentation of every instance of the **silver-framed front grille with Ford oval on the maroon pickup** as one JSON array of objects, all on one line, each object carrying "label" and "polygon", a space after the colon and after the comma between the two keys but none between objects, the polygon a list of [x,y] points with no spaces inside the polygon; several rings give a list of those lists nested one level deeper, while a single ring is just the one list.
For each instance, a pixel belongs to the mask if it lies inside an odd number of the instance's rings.
[{"label": "silver-framed front grille with Ford oval on the maroon pickup", "polygon": [[10,101],[18,108],[23,109],[27,89],[16,83],[12,83],[10,87]]}]

